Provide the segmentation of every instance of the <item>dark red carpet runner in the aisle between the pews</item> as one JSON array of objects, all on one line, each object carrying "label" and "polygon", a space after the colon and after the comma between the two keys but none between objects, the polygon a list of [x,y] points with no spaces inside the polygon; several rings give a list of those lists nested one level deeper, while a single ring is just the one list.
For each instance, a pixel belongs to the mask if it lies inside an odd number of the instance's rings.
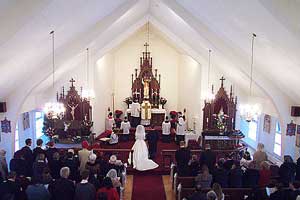
[{"label": "dark red carpet runner in the aisle between the pews", "polygon": [[161,176],[135,175],[132,200],[165,200],[166,194]]}]

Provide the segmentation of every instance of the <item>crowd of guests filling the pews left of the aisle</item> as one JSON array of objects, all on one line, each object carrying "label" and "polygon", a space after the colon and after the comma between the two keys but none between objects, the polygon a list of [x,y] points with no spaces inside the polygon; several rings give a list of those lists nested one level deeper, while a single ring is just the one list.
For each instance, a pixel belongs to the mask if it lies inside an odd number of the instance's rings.
[{"label": "crowd of guests filling the pews left of the aisle", "polygon": [[[0,154],[1,200],[119,200],[125,182],[125,166],[115,155],[109,160],[102,153],[82,149],[62,150],[54,142],[42,148],[38,139],[31,150],[32,140],[14,153],[6,162],[5,151]],[[9,172],[8,172],[9,168]]]}]

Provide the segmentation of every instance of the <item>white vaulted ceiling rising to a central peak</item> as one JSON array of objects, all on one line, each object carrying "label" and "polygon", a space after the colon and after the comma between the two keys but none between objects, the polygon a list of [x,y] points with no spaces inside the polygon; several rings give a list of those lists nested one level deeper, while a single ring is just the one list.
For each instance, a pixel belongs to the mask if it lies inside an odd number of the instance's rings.
[{"label": "white vaulted ceiling rising to a central peak", "polygon": [[[57,79],[86,47],[103,55],[148,21],[195,60],[216,66],[247,90],[251,35],[254,81],[271,98],[299,103],[300,1],[297,0],[2,0],[0,100],[51,84],[55,30]],[[25,94],[26,96],[26,94]],[[283,101],[283,100],[280,100]]]}]

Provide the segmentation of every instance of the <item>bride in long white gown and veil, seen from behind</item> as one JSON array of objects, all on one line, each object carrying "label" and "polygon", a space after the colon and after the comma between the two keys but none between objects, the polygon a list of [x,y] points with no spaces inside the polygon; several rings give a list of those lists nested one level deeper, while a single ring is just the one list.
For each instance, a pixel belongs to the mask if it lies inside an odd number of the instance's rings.
[{"label": "bride in long white gown and veil, seen from behind", "polygon": [[[139,171],[150,170],[158,167],[153,160],[148,158],[149,152],[145,142],[145,128],[138,125],[135,131],[135,143],[133,150],[133,168]],[[131,163],[131,154],[129,154],[128,162]]]}]

